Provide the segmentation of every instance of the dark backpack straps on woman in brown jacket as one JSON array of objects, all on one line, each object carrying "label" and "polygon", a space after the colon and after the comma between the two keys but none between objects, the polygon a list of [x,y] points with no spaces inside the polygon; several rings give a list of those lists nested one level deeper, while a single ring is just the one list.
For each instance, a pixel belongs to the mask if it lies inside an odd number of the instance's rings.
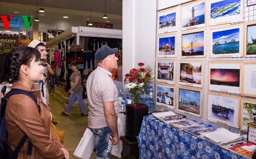
[{"label": "dark backpack straps on woman in brown jacket", "polygon": [[[2,102],[6,102],[6,99],[12,95],[16,95],[16,94],[23,94],[23,95],[26,95],[26,96],[29,96],[33,101],[34,103],[36,103],[37,105],[37,108],[38,108],[38,112],[40,114],[40,106],[37,104],[37,99],[32,96],[30,93],[24,91],[24,90],[20,90],[20,89],[11,89],[7,94],[6,96],[2,99]],[[5,104],[5,107],[6,107],[6,104]],[[2,111],[1,111],[2,112]],[[5,111],[3,112],[5,113]],[[1,114],[2,116],[2,114]],[[24,137],[21,139],[21,141],[19,142],[19,144],[17,145],[16,149],[14,152],[18,153],[20,151],[20,149],[22,148],[22,146],[24,145],[24,143],[26,142],[26,140],[28,139],[27,135],[24,135]],[[29,141],[28,142],[28,152],[27,152],[27,155],[31,155],[32,154],[32,143]]]}]

